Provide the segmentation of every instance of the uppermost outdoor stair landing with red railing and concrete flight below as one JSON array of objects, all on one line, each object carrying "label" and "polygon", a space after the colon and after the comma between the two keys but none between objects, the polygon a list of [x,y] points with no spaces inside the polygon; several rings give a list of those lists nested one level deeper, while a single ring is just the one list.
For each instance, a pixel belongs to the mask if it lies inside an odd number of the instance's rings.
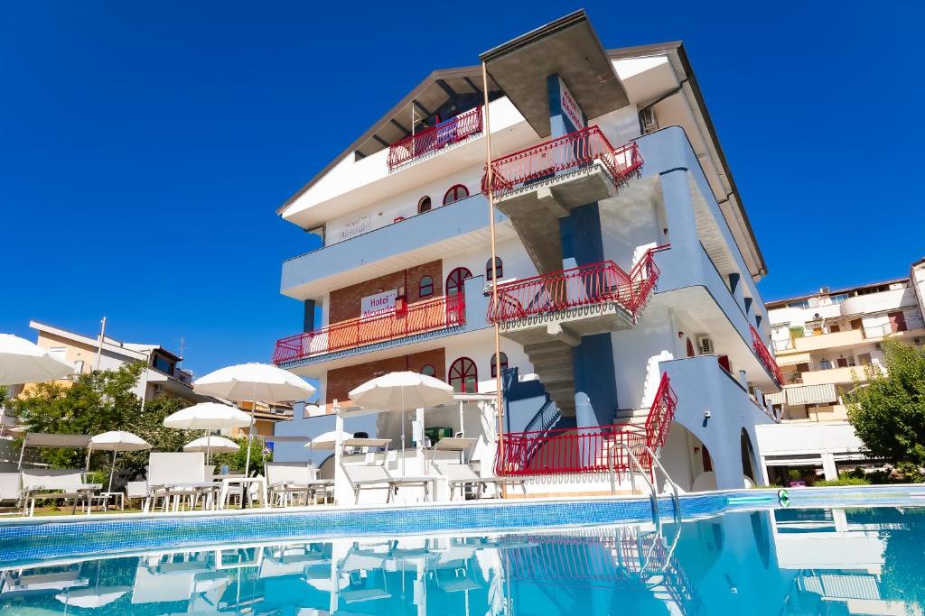
[{"label": "uppermost outdoor stair landing with red railing and concrete flight below", "polygon": [[[641,169],[635,143],[614,148],[599,127],[588,127],[492,161],[491,193],[536,269],[554,272],[561,263],[559,218],[616,196]],[[482,192],[488,194],[487,173]]]}]

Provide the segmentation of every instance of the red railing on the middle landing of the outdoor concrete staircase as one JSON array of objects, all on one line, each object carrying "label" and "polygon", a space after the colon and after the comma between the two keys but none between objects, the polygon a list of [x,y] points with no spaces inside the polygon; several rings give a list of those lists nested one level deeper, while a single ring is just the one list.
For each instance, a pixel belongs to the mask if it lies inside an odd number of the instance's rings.
[{"label": "red railing on the middle landing of the outdoor concrete staircase", "polygon": [[660,271],[653,255],[663,248],[667,247],[649,249],[630,273],[608,260],[499,284],[498,299],[489,303],[487,319],[503,322],[612,301],[623,306],[635,323],[658,284]]}]

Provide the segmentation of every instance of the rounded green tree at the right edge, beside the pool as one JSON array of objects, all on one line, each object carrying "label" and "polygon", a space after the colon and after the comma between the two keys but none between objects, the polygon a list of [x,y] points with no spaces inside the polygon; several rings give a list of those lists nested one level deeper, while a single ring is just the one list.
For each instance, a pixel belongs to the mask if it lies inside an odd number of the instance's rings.
[{"label": "rounded green tree at the right edge, beside the pool", "polygon": [[[848,420],[867,450],[913,475],[925,465],[925,349],[883,342],[886,374],[868,366],[846,395]],[[918,477],[914,477],[918,478]]]}]

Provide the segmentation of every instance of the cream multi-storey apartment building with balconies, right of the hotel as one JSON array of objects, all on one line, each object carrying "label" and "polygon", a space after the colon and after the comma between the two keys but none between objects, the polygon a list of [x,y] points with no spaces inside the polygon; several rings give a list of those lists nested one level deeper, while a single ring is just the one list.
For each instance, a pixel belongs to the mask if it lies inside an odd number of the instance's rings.
[{"label": "cream multi-storey apartment building with balconies, right of the hotel", "polygon": [[918,295],[922,264],[909,278],[861,284],[768,304],[771,342],[783,374],[783,392],[771,396],[783,423],[759,430],[769,481],[792,468],[817,468],[828,479],[838,467],[868,462],[847,422],[845,393],[868,370],[882,371],[882,342],[925,344]]}]

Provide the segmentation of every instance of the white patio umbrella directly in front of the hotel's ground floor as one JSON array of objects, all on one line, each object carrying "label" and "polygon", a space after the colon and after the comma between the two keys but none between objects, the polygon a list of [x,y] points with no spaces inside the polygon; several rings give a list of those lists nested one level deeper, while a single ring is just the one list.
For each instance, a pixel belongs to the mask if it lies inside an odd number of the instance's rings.
[{"label": "white patio umbrella directly in front of the hotel's ground floor", "polygon": [[453,388],[442,380],[417,372],[389,372],[368,380],[348,394],[355,405],[383,411],[401,411],[401,473],[404,474],[405,410],[446,405]]}]

